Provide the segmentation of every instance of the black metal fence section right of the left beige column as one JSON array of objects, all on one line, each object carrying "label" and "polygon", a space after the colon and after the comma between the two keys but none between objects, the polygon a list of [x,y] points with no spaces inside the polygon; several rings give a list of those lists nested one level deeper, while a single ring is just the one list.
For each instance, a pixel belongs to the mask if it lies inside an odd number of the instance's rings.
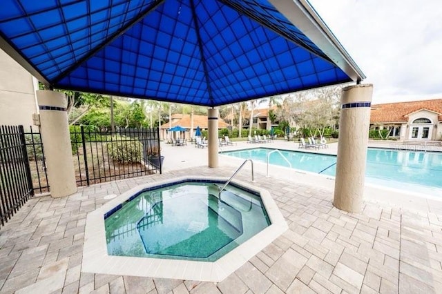
[{"label": "black metal fence section right of the left beige column", "polygon": [[161,173],[159,130],[104,133],[90,126],[70,130],[78,186]]}]

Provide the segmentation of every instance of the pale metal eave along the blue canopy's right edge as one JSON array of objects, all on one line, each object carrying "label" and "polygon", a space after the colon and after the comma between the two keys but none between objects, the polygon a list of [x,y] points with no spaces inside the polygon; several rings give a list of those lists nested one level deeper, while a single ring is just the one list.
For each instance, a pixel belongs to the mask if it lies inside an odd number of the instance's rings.
[{"label": "pale metal eave along the blue canopy's right edge", "polygon": [[365,75],[307,0],[269,0],[353,81]]}]

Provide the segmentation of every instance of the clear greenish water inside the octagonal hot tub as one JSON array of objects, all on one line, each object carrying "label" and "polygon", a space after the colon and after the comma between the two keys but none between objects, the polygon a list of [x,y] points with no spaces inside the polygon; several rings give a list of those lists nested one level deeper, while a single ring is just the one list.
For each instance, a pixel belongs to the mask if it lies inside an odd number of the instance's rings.
[{"label": "clear greenish water inside the octagonal hot tub", "polygon": [[140,193],[105,219],[109,255],[212,262],[269,226],[260,197],[181,183]]}]

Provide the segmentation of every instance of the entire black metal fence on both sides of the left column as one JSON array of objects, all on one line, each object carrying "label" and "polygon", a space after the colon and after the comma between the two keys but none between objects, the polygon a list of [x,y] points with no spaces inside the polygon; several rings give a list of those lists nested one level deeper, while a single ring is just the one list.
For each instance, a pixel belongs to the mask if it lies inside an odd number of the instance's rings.
[{"label": "entire black metal fence on both sides of the left column", "polygon": [[[162,172],[159,129],[121,129],[102,133],[93,127],[70,132],[78,186]],[[39,131],[0,126],[0,224],[35,193],[49,191]]]}]

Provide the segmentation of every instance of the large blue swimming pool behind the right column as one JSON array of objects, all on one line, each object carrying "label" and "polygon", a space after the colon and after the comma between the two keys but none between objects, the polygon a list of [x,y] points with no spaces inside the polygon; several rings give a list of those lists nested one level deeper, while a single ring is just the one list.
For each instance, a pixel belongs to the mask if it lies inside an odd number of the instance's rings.
[{"label": "large blue swimming pool behind the right column", "polygon": [[[220,154],[267,163],[267,154],[271,150],[274,149],[252,148]],[[335,155],[291,150],[280,152],[290,161],[292,168],[321,175],[336,174]],[[289,167],[278,153],[271,155],[269,163]],[[365,181],[387,188],[442,197],[442,153],[369,148]]]}]

